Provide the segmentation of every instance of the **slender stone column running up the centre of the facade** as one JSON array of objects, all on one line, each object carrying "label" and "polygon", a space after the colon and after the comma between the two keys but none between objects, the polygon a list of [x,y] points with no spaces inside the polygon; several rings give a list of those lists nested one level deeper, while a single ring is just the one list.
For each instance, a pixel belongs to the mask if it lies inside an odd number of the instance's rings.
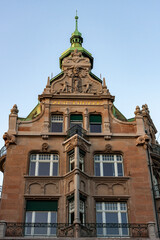
[{"label": "slender stone column running up the centre of the facade", "polygon": [[75,176],[74,176],[74,230],[75,230],[75,237],[80,236],[80,218],[79,218],[79,147],[75,146],[74,149],[75,153]]}]

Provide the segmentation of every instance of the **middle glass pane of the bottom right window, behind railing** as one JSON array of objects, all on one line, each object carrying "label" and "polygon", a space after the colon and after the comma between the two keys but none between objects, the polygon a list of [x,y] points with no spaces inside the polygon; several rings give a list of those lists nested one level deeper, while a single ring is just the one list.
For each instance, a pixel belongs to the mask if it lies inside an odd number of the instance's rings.
[{"label": "middle glass pane of the bottom right window, behind railing", "polygon": [[[106,223],[117,223],[118,224],[118,213],[106,213]],[[108,227],[106,229],[107,235],[119,235],[119,228],[117,227]]]}]

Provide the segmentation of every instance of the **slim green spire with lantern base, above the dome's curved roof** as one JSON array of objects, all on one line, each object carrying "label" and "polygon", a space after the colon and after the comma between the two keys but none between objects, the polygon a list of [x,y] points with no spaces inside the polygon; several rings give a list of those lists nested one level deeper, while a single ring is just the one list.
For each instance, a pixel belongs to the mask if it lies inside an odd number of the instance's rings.
[{"label": "slim green spire with lantern base, above the dome's curved roof", "polygon": [[76,20],[75,31],[72,33],[72,36],[70,38],[71,47],[82,47],[83,38],[82,38],[82,34],[78,31],[77,10],[76,10],[75,20]]}]

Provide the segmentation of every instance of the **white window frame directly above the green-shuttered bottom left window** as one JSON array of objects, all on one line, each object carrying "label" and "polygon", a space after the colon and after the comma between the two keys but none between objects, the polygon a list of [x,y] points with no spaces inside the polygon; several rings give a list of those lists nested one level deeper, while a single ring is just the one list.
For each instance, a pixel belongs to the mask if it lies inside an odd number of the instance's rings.
[{"label": "white window frame directly above the green-shuttered bottom left window", "polygon": [[[35,159],[32,159],[33,156],[36,156]],[[43,156],[42,158],[47,158],[48,159],[39,159],[41,156]],[[44,175],[44,176],[53,176],[53,164],[54,163],[58,163],[58,170],[57,170],[57,175],[54,176],[58,176],[59,174],[59,155],[58,154],[48,154],[48,153],[33,153],[30,155],[30,163],[31,162],[35,162],[35,174],[34,175],[30,175],[30,176],[39,176],[38,175],[38,170],[39,170],[39,163],[50,163],[49,164],[49,175]]]}]

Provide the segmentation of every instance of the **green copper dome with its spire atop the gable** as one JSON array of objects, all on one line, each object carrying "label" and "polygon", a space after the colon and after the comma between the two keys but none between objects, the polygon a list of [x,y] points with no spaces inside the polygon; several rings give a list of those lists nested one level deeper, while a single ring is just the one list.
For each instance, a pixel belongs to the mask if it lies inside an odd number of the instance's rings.
[{"label": "green copper dome with its spire atop the gable", "polygon": [[76,27],[75,31],[72,33],[71,38],[70,38],[70,43],[71,47],[68,48],[66,51],[64,51],[60,58],[59,58],[59,63],[60,63],[60,68],[62,68],[62,61],[65,57],[69,56],[71,52],[74,52],[75,49],[78,49],[79,52],[83,54],[84,57],[88,57],[91,61],[91,69],[93,68],[93,57],[90,52],[88,52],[85,48],[82,47],[83,43],[83,38],[82,34],[78,31],[78,16],[76,14],[75,16],[76,20]]}]

